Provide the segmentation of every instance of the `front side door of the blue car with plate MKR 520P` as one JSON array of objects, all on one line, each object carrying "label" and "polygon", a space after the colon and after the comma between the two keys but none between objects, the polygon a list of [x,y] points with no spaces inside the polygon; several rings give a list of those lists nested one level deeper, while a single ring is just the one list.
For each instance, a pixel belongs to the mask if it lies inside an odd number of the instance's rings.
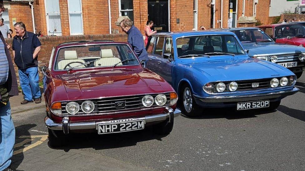
[{"label": "front side door of the blue car with plate MKR 520P", "polygon": [[[164,55],[166,54],[166,55]],[[170,54],[170,58],[165,58]],[[172,84],[172,72],[174,62],[174,49],[173,39],[171,37],[165,37],[163,55],[158,58],[159,75],[163,77],[168,83]]]}]

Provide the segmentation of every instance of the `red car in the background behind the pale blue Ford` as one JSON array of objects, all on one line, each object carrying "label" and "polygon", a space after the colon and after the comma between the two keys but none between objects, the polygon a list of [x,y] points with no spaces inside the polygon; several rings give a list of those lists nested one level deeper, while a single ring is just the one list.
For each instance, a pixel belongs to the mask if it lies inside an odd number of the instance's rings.
[{"label": "red car in the background behind the pale blue Ford", "polygon": [[270,36],[276,43],[305,45],[305,26],[296,23],[269,24],[257,26]]}]

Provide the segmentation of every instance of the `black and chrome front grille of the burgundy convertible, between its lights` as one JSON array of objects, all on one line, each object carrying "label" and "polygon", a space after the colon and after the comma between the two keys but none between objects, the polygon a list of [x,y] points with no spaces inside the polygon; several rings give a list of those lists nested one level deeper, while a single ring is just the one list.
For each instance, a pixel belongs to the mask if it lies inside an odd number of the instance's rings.
[{"label": "black and chrome front grille of the burgundy convertible, between its lights", "polygon": [[[135,96],[125,96],[125,97],[107,97],[102,99],[90,99],[94,103],[94,111],[92,113],[112,113],[112,112],[118,112],[118,111],[128,111],[131,109],[141,109],[141,108],[147,108],[144,107],[142,104],[142,98],[147,95],[135,95]],[[149,94],[155,98],[158,94]],[[167,97],[167,102],[164,106],[170,105],[170,94],[165,93]],[[85,100],[75,101],[79,104],[80,109],[79,112],[76,115],[80,114],[86,114],[81,110],[81,104]],[[115,102],[125,102],[125,107],[123,108],[116,108]],[[62,104],[62,114],[63,115],[69,115],[66,111],[66,105],[68,102],[61,102]],[[155,103],[151,107],[158,107]]]}]

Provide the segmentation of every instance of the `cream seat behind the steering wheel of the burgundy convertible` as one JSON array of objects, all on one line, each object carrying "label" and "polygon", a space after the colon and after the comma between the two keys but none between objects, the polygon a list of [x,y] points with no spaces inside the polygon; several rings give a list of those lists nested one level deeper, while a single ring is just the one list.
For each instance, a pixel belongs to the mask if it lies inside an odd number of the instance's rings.
[{"label": "cream seat behind the steering wheel of the burgundy convertible", "polygon": [[[63,60],[59,61],[57,64],[57,69],[58,70],[63,70],[64,67],[69,64],[70,62],[81,62],[81,63],[85,63],[85,61],[83,59],[78,59],[77,57],[77,52],[76,50],[66,50],[65,54],[64,54],[64,58]],[[81,63],[72,63],[69,64],[69,66],[74,67],[74,66],[78,66]],[[85,65],[79,66],[78,68],[85,68]],[[69,69],[69,67],[67,67],[66,69]]]}]

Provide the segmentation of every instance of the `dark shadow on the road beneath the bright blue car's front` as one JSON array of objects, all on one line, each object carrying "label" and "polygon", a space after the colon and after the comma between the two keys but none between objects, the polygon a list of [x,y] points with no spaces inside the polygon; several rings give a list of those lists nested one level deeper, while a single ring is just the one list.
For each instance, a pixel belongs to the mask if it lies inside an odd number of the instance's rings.
[{"label": "dark shadow on the road beneath the bright blue car's front", "polygon": [[219,118],[226,118],[226,119],[243,119],[243,118],[254,118],[257,117],[256,115],[262,115],[266,113],[272,113],[275,110],[270,111],[266,109],[252,109],[252,110],[242,110],[237,111],[235,108],[206,108],[204,109],[204,113],[202,116],[198,117],[187,117],[182,115],[188,119],[219,119]]}]

